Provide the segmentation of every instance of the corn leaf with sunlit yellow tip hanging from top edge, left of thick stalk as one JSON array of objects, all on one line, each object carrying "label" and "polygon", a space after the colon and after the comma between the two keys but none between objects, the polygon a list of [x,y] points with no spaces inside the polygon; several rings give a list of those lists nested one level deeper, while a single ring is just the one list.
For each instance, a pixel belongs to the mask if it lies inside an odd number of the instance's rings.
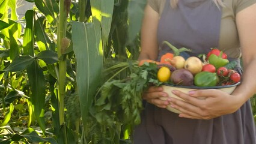
[{"label": "corn leaf with sunlit yellow tip hanging from top edge, left of thick stalk", "polygon": [[49,23],[56,25],[59,7],[55,0],[35,0],[35,5],[46,16]]}]

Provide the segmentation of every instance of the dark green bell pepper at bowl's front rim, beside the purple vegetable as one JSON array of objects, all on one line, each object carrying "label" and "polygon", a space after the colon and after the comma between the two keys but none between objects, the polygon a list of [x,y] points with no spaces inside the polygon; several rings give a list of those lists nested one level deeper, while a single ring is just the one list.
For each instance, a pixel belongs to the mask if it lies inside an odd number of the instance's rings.
[{"label": "dark green bell pepper at bowl's front rim, beside the purple vegetable", "polygon": [[196,86],[216,86],[218,82],[218,76],[216,73],[209,71],[201,71],[195,74],[194,84]]}]

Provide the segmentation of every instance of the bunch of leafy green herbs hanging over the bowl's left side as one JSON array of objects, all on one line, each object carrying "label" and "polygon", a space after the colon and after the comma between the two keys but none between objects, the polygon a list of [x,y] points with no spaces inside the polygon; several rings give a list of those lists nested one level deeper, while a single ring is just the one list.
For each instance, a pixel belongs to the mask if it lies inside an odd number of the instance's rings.
[{"label": "bunch of leafy green herbs hanging over the bowl's left side", "polygon": [[[91,113],[98,122],[105,125],[139,124],[142,106],[142,94],[149,86],[162,84],[157,80],[157,65],[138,61],[119,62],[107,68],[103,73],[112,74],[100,87]],[[120,79],[120,74],[126,76]]]}]

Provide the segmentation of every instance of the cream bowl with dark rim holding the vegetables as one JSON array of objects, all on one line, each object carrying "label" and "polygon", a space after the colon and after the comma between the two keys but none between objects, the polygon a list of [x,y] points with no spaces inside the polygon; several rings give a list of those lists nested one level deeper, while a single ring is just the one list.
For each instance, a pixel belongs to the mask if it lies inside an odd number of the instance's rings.
[{"label": "cream bowl with dark rim holding the vegetables", "polygon": [[[220,89],[221,91],[225,91],[228,94],[231,94],[234,91],[234,89],[236,89],[237,85],[240,85],[240,82],[235,83],[233,85],[225,85],[225,86],[199,87],[199,86],[178,86],[178,85],[164,84],[164,85],[162,85],[162,87],[163,87],[163,91],[166,92],[169,95],[169,97],[174,97],[174,98],[183,100],[180,97],[177,97],[176,95],[172,94],[172,90],[178,90],[178,91],[188,94],[189,91],[193,91],[193,90],[197,90],[197,89]],[[161,97],[160,99],[166,100],[167,97]],[[201,99],[203,99],[203,97],[201,97]],[[166,109],[168,109],[169,111],[174,112],[174,113],[180,113],[179,110],[174,109],[171,106],[167,106]]]}]

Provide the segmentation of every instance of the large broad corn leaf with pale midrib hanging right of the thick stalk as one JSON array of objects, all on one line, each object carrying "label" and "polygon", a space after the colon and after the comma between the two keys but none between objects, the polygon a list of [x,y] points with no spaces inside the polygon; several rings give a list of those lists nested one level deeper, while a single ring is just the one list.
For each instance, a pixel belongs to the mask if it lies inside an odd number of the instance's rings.
[{"label": "large broad corn leaf with pale midrib hanging right of the thick stalk", "polygon": [[77,62],[77,85],[81,104],[83,124],[87,124],[89,108],[100,83],[102,53],[97,46],[94,23],[73,22],[73,49]]}]

